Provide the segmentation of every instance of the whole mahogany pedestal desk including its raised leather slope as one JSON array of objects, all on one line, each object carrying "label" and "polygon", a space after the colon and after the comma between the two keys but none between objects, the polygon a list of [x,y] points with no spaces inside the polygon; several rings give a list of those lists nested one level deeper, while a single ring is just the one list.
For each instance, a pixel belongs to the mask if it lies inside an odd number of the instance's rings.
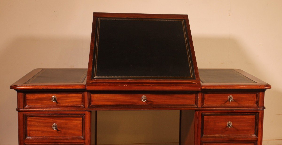
[{"label": "whole mahogany pedestal desk including its raised leather slope", "polygon": [[96,144],[97,110],[180,110],[181,145],[261,145],[271,86],[198,69],[187,15],[94,13],[88,69],[38,68],[10,88],[21,145]]}]

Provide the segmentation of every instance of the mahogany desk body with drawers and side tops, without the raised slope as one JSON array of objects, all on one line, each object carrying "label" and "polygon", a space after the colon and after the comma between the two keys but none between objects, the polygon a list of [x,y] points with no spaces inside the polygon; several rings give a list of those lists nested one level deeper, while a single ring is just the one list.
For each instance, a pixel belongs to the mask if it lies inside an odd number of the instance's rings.
[{"label": "mahogany desk body with drawers and side tops, without the raised slope", "polygon": [[262,144],[264,91],[271,86],[242,70],[199,69],[202,90],[192,92],[87,91],[86,72],[39,68],[11,85],[19,144],[90,145],[93,110],[182,110],[181,144]]}]

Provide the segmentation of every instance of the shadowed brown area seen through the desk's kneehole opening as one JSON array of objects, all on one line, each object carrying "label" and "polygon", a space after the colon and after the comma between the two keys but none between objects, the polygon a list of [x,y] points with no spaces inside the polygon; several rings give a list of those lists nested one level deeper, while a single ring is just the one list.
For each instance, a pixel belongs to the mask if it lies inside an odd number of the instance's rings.
[{"label": "shadowed brown area seen through the desk's kneehole opening", "polygon": [[97,111],[96,135],[98,145],[172,145],[179,142],[179,110]]}]

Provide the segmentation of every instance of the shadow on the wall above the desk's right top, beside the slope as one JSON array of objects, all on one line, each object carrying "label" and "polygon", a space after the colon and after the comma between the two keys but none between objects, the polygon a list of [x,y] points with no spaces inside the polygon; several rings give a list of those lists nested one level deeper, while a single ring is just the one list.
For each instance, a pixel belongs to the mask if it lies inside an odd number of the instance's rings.
[{"label": "shadow on the wall above the desk's right top, beside the slope", "polygon": [[[198,68],[239,68],[260,72],[257,51],[228,37],[193,37]],[[257,58],[256,58],[257,57]],[[249,72],[249,73],[251,73]]]}]

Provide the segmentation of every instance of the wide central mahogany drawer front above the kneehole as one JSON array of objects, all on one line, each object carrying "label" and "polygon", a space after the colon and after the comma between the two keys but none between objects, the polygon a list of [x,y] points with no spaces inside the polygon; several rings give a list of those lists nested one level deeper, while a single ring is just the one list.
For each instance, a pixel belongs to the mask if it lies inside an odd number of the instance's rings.
[{"label": "wide central mahogany drawer front above the kneehole", "polygon": [[[142,101],[142,96],[146,96],[146,100]],[[186,94],[150,94],[150,93],[91,93],[91,105],[95,106],[162,106],[162,105],[182,105],[196,107],[197,93]],[[144,98],[144,97],[143,97]]]}]

